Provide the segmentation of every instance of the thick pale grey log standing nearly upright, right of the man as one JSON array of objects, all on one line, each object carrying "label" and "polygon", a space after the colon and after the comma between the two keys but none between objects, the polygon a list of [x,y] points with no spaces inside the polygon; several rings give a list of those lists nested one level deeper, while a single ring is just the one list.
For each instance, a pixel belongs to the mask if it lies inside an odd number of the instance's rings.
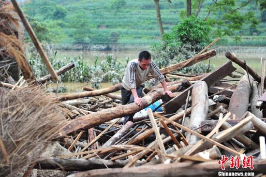
[{"label": "thick pale grey log standing nearly upright, right of the man", "polygon": [[[201,122],[207,119],[208,107],[208,86],[206,82],[201,81],[192,88],[190,129],[197,129],[200,127]],[[186,139],[189,141],[189,144],[194,144],[200,140],[200,138],[191,133],[188,133]]]}]

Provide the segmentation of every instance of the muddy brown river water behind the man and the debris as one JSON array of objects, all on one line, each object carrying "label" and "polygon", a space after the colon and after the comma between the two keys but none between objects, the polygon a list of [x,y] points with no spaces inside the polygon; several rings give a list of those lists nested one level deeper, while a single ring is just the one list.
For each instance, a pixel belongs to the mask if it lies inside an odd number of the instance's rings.
[{"label": "muddy brown river water behind the man and the debris", "polygon": [[[213,47],[217,51],[217,55],[210,59],[210,64],[213,64],[216,68],[220,67],[225,62],[229,61],[225,57],[226,51],[234,52],[236,57],[241,60],[246,60],[247,65],[249,65],[253,70],[255,70],[259,75],[261,75],[261,58],[263,61],[266,59],[266,47]],[[143,50],[147,50],[144,48]],[[119,61],[126,61],[126,58],[137,59],[139,50],[129,50],[129,51],[74,51],[74,50],[59,50],[57,58],[63,59],[64,57],[79,57],[88,62],[89,65],[94,63],[95,57],[98,55],[99,60],[105,59],[108,54],[113,55],[113,57],[118,58]],[[204,61],[208,63],[208,60]],[[233,63],[237,68],[237,71],[242,72],[243,70]],[[72,91],[77,89],[82,89],[86,83],[63,83],[63,85],[68,86]],[[111,86],[111,83],[102,83],[102,88]]]}]

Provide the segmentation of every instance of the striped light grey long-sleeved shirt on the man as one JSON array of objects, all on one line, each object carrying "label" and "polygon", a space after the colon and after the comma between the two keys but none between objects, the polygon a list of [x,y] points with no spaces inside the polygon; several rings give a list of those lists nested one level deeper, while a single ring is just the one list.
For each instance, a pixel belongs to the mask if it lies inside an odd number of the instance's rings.
[{"label": "striped light grey long-sleeved shirt on the man", "polygon": [[127,65],[126,72],[122,80],[122,86],[127,90],[137,88],[146,81],[149,74],[151,74],[154,78],[159,78],[160,83],[164,81],[163,74],[153,61],[150,61],[146,70],[142,70],[139,66],[138,59],[133,59]]}]

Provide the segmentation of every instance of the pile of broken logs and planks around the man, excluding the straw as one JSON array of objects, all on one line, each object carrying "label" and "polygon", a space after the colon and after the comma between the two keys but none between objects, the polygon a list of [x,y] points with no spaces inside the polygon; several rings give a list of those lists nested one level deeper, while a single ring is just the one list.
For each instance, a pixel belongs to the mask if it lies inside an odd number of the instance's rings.
[{"label": "pile of broken logs and planks around the man, excluding the straw", "polygon": [[[161,69],[175,78],[167,82],[175,97],[163,95],[160,85],[145,88],[142,106],[121,105],[120,95],[113,93],[120,84],[56,95],[55,100],[61,102],[58,110],[68,121],[53,140],[72,154],[39,159],[33,168],[86,171],[72,177],[213,176],[221,171],[218,160],[225,155],[241,160],[253,156],[252,172],[264,173],[266,119],[264,102],[259,101],[264,92],[262,77],[229,52],[226,57],[241,66],[242,73],[235,73],[232,61],[211,73],[173,73],[215,54],[210,50]],[[230,77],[241,79],[236,82]],[[49,78],[38,81],[45,83]],[[160,105],[154,106],[160,99]],[[163,111],[158,112],[159,107]],[[133,113],[134,122],[123,125],[123,117]],[[224,165],[230,169],[229,161]],[[251,171],[241,165],[238,170]]]}]

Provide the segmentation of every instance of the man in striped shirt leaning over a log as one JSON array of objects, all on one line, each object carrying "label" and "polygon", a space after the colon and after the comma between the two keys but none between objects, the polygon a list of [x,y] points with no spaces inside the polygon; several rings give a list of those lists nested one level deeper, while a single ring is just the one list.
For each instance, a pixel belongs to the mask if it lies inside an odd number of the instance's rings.
[{"label": "man in striped shirt leaning over a log", "polygon": [[[126,73],[122,80],[122,104],[137,103],[142,105],[141,94],[144,88],[143,82],[146,81],[148,75],[151,74],[154,78],[159,78],[160,83],[163,86],[163,94],[173,96],[172,92],[167,89],[166,82],[163,74],[157,68],[153,61],[151,61],[151,55],[148,51],[142,51],[139,53],[138,59],[131,60],[126,68]],[[127,121],[133,122],[133,116],[126,116],[124,124]]]}]

